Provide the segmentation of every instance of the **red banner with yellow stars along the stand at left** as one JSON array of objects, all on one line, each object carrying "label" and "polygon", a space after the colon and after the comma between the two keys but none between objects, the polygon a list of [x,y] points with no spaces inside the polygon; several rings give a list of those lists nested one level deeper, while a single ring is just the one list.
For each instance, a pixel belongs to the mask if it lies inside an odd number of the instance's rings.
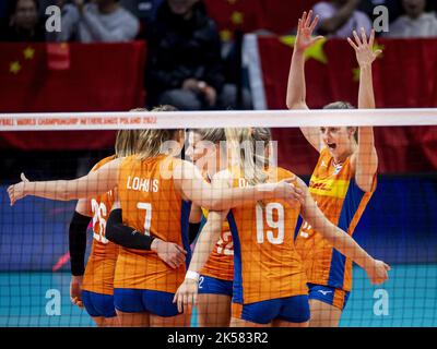
[{"label": "red banner with yellow stars along the stand at left", "polygon": [[[144,105],[142,41],[0,44],[0,112],[127,111]],[[115,140],[114,131],[43,134],[3,132],[0,147],[94,149],[113,147]]]}]

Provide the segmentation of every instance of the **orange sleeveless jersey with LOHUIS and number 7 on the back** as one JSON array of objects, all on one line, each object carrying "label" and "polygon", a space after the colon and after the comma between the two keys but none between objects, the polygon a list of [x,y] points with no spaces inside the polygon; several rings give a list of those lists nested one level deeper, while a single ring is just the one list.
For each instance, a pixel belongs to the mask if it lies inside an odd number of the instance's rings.
[{"label": "orange sleeveless jersey with LOHUIS and number 7 on the back", "polygon": [[[167,160],[166,156],[144,160],[130,156],[122,160],[118,182],[122,220],[138,231],[184,246],[189,261],[191,204],[182,200],[173,182],[172,172],[178,160]],[[186,265],[173,269],[154,252],[120,246],[115,288],[174,293],[184,281]]]}]

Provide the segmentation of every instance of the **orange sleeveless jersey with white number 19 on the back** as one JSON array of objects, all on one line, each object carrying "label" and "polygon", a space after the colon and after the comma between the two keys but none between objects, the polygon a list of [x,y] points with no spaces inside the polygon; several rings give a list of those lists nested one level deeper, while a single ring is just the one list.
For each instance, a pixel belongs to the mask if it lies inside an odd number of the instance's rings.
[{"label": "orange sleeveless jersey with white number 19 on the back", "polygon": [[[269,181],[293,177],[276,168]],[[294,183],[297,185],[297,182]],[[246,185],[234,178],[234,186]],[[234,299],[249,304],[264,300],[307,294],[307,279],[294,246],[300,204],[271,200],[233,208],[228,215],[234,239]]]}]

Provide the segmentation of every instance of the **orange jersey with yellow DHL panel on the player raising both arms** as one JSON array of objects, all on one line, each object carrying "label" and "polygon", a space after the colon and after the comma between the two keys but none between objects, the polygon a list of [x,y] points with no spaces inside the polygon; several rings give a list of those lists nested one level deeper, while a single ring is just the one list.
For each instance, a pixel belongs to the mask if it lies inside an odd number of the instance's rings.
[{"label": "orange jersey with yellow DHL panel on the player raising both arms", "polygon": [[[363,192],[355,183],[351,157],[334,166],[328,148],[320,153],[309,191],[317,206],[335,226],[353,234],[359,218],[376,189]],[[332,248],[320,233],[304,221],[296,238],[296,249],[303,257],[308,282],[350,291],[352,261]]]}]

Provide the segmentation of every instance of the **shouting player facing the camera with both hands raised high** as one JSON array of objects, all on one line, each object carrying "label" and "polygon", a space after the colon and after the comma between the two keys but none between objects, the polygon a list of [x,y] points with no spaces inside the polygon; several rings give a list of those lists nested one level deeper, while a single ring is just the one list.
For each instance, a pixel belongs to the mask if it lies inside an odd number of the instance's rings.
[{"label": "shouting player facing the camera with both hands raised high", "polygon": [[[288,76],[286,104],[290,109],[308,109],[305,87],[305,50],[322,37],[311,38],[318,16],[304,12],[298,21]],[[381,53],[374,51],[375,32],[367,39],[354,32],[355,43],[349,43],[356,52],[361,69],[358,108],[375,108],[371,63]],[[326,109],[352,109],[343,101]],[[358,220],[376,189],[378,157],[371,127],[300,128],[307,141],[319,152],[309,192],[318,207],[334,225],[353,234]],[[358,142],[355,140],[356,133]],[[338,326],[352,288],[352,261],[323,239],[319,229],[305,221],[296,239],[296,249],[303,257],[308,275],[311,306],[310,326]]]}]

